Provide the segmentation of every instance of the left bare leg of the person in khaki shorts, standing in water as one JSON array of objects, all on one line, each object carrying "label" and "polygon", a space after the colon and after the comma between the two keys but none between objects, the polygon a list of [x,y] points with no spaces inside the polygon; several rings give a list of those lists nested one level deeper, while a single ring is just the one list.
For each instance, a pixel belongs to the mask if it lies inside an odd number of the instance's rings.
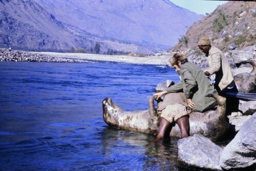
[{"label": "left bare leg of the person in khaki shorts, standing in water", "polygon": [[162,139],[170,136],[170,131],[172,130],[172,125],[169,121],[161,118],[160,125],[158,128],[157,139]]}]

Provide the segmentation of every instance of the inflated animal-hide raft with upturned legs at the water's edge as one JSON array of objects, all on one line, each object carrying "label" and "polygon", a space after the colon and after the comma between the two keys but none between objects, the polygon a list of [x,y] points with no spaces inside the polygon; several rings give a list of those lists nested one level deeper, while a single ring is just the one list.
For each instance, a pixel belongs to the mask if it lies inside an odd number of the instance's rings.
[{"label": "inflated animal-hide raft with upturned legs at the water's edge", "polygon": [[[200,134],[212,140],[219,140],[227,134],[229,123],[225,115],[226,98],[213,96],[218,102],[216,110],[189,114],[190,135]],[[118,129],[156,135],[161,117],[156,112],[153,97],[148,100],[148,106],[149,109],[145,111],[126,112],[115,105],[111,98],[105,98],[102,101],[103,120]],[[170,136],[180,135],[179,126],[175,124]]]}]

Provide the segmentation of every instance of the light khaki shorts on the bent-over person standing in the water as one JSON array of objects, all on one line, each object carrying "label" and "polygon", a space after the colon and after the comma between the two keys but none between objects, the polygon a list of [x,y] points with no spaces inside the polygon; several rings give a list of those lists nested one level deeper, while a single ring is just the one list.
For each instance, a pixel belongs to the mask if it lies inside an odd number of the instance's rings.
[{"label": "light khaki shorts on the bent-over person standing in the water", "polygon": [[175,103],[167,105],[166,108],[162,110],[161,117],[172,123],[186,115],[188,115],[186,107],[180,103]]}]

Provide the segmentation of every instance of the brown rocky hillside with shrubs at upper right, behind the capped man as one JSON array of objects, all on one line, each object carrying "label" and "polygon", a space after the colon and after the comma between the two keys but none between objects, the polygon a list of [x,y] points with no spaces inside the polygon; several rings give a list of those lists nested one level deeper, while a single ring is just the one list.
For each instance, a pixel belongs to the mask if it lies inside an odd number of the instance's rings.
[{"label": "brown rocky hillside with shrubs at upper right, behind the capped man", "polygon": [[256,44],[256,2],[229,1],[193,24],[170,51],[199,52],[197,43],[208,36],[211,44],[224,52],[244,50]]}]

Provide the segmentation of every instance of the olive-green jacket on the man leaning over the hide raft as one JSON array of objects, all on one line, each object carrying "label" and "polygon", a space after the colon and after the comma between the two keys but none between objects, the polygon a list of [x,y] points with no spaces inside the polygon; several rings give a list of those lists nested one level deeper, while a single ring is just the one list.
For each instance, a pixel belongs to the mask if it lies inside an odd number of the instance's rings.
[{"label": "olive-green jacket on the man leaning over the hide raft", "polygon": [[195,103],[194,111],[204,112],[216,103],[215,98],[205,97],[217,94],[204,72],[194,63],[186,62],[180,67],[181,81],[166,89],[168,93],[183,92],[187,99]]}]

